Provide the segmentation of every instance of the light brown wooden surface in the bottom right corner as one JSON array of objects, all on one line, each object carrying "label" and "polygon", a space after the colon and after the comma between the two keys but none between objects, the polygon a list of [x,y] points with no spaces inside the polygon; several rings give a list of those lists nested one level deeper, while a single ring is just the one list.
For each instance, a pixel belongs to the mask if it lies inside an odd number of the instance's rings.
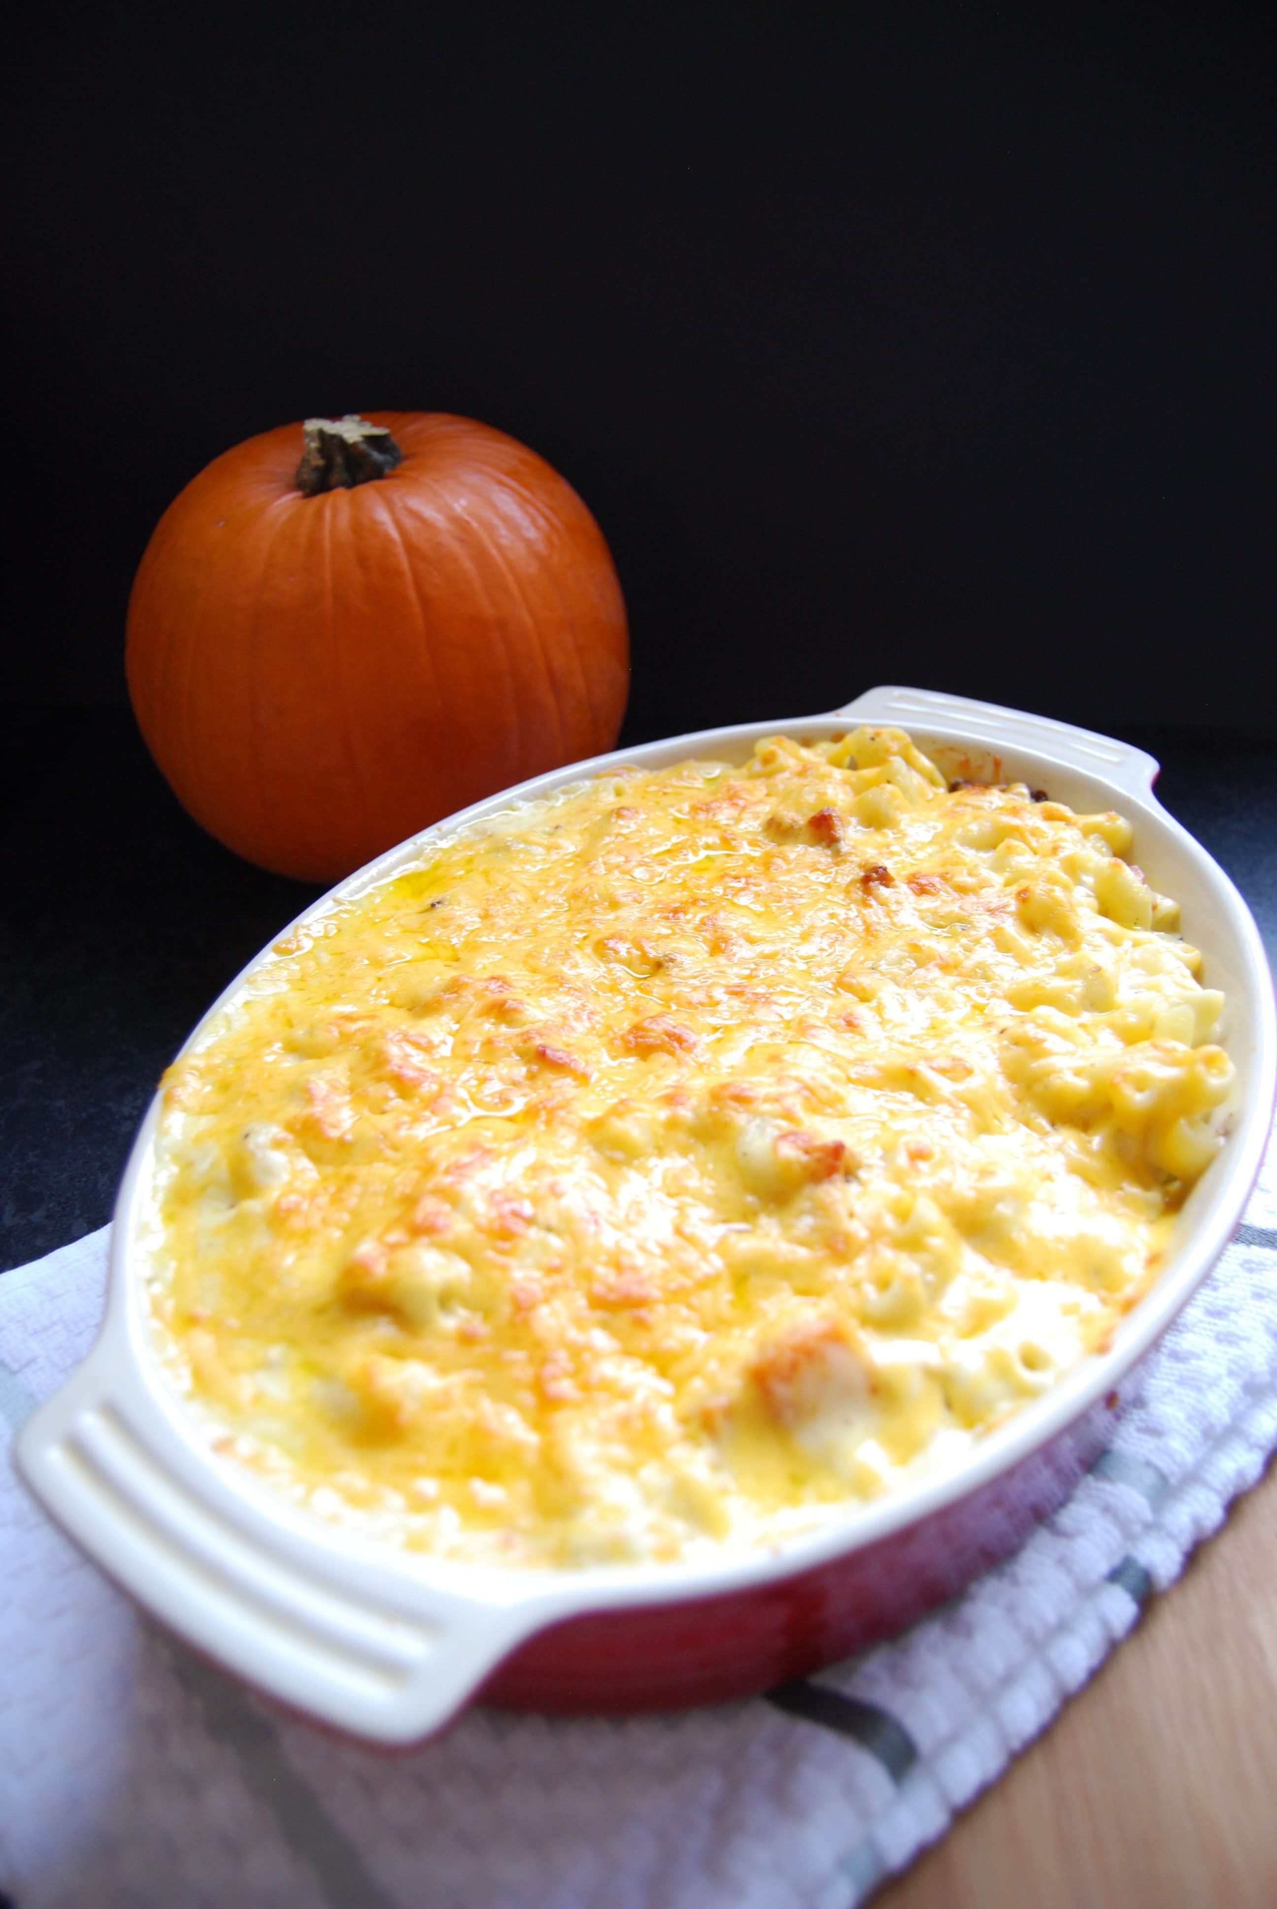
[{"label": "light brown wooden surface in the bottom right corner", "polygon": [[1277,1464],[874,1909],[1275,1909]]}]

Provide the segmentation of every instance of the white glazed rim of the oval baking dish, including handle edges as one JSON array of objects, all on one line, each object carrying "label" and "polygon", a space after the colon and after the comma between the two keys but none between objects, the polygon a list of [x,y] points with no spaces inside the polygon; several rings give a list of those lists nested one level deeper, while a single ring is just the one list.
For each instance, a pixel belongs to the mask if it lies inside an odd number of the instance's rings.
[{"label": "white glazed rim of the oval baking dish, including handle edges", "polygon": [[[99,1340],[86,1365],[25,1428],[19,1441],[19,1462],[29,1483],[71,1529],[71,1535],[120,1577],[143,1604],[158,1609],[193,1642],[330,1722],[347,1724],[386,1741],[408,1741],[443,1722],[513,1646],[552,1623],[626,1605],[681,1604],[756,1590],[870,1546],[964,1499],[979,1485],[1012,1470],[1029,1453],[1050,1443],[1090,1403],[1111,1392],[1187,1302],[1227,1243],[1264,1157],[1277,1080],[1277,1031],[1267,958],[1250,911],[1227,874],[1151,794],[1151,781],[1157,773],[1153,758],[1107,737],[1019,710],[939,693],[882,687],[867,691],[851,704],[817,716],[731,724],[659,739],[638,748],[613,750],[571,764],[500,790],[441,819],[408,842],[397,844],[309,903],[221,991],[179,1052],[185,1054],[200,1042],[210,1023],[241,995],[250,977],[275,958],[279,941],[298,928],[305,928],[334,905],[374,888],[395,867],[414,861],[431,840],[445,840],[489,815],[506,813],[519,802],[552,794],[609,769],[659,766],[720,752],[731,752],[737,760],[744,760],[748,748],[762,737],[828,735],[859,722],[897,724],[916,733],[924,746],[932,741],[958,750],[979,748],[981,754],[1006,752],[1021,758],[1033,773],[1040,771],[1042,779],[1050,779],[1052,771],[1090,777],[1122,806],[1136,829],[1145,821],[1166,830],[1174,850],[1191,861],[1210,886],[1212,901],[1225,918],[1227,941],[1237,954],[1243,993],[1254,1019],[1250,1080],[1243,1105],[1233,1109],[1233,1132],[1227,1145],[1189,1201],[1193,1212],[1187,1231],[1183,1239],[1176,1241],[1166,1271],[1124,1315],[1105,1352],[1082,1359],[1046,1394],[981,1437],[962,1462],[932,1474],[924,1472],[920,1478],[884,1493],[882,1499],[832,1508],[809,1529],[785,1537],[773,1546],[722,1552],[718,1558],[701,1562],[584,1569],[460,1563],[433,1558],[429,1552],[408,1552],[370,1533],[340,1527],[260,1481],[235,1460],[227,1462],[212,1453],[197,1415],[160,1369],[155,1327],[147,1317],[145,1254],[139,1247],[139,1227],[160,1107],[157,1094],[134,1142],[115,1208],[111,1283]],[[366,1703],[342,1707],[336,1699],[323,1701],[323,1697],[311,1695],[305,1674],[281,1672],[275,1678],[269,1674],[269,1642],[254,1651],[237,1649],[233,1640],[227,1642],[225,1628],[220,1630],[210,1611],[199,1605],[195,1592],[191,1592],[195,1602],[187,1600],[183,1605],[181,1596],[160,1596],[155,1586],[147,1584],[145,1544],[134,1533],[130,1550],[130,1533],[124,1529],[130,1499],[128,1478],[124,1478],[122,1487],[116,1478],[116,1499],[124,1497],[124,1508],[118,1502],[99,1506],[97,1516],[88,1516],[82,1508],[76,1512],[76,1497],[74,1489],[69,1487],[65,1466],[59,1478],[57,1457],[65,1451],[69,1436],[74,1441],[76,1413],[101,1411],[103,1405],[109,1413],[122,1411],[126,1420],[134,1420],[134,1434],[149,1445],[153,1457],[168,1437],[172,1445],[164,1449],[160,1462],[168,1462],[174,1476],[181,1478],[185,1491],[195,1499],[202,1497],[208,1506],[216,1506],[221,1521],[250,1548],[267,1542],[269,1533],[273,1548],[288,1554],[288,1565],[304,1586],[309,1583],[321,1596],[324,1588],[338,1598],[355,1592],[366,1602],[370,1584],[376,1584],[378,1596],[372,1602],[380,1605],[382,1615],[389,1613],[391,1625],[397,1619],[422,1613],[428,1625],[433,1625],[435,1630],[443,1628],[454,1646],[464,1638],[468,1647],[454,1651],[458,1659],[466,1659],[464,1665],[456,1665],[460,1674],[439,1680],[435,1672],[435,1684],[441,1684],[441,1701],[437,1705],[422,1701],[422,1678],[416,1672],[408,1680],[416,1688],[416,1703],[408,1707],[412,1718],[403,1703],[395,1712],[393,1703],[389,1707],[382,1703],[378,1709],[378,1705],[368,1707]],[[113,1518],[118,1527],[115,1533],[111,1531]],[[155,1512],[155,1520],[162,1523],[160,1512]],[[170,1533],[172,1542],[181,1542],[181,1535],[174,1537],[174,1533]],[[252,1560],[246,1571],[252,1579]],[[332,1613],[328,1615],[332,1617]],[[279,1646],[279,1638],[275,1638],[275,1646]],[[395,1714],[391,1716],[391,1712]]]}]

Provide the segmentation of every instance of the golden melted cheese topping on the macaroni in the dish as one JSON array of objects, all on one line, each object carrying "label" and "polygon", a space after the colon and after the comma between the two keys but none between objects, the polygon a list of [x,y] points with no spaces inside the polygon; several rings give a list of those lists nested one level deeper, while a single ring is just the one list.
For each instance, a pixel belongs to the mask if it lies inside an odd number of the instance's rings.
[{"label": "golden melted cheese topping on the macaroni in the dish", "polygon": [[901,731],[611,773],[281,943],[166,1077],[153,1302],[221,1447],[523,1565],[756,1546],[1036,1397],[1210,1161],[1128,825]]}]

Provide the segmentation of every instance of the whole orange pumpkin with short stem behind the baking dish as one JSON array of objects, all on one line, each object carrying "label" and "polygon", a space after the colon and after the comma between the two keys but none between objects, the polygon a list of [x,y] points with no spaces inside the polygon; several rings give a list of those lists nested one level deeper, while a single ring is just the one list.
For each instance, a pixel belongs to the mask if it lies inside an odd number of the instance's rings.
[{"label": "whole orange pumpkin with short stem behind the baking dish", "polygon": [[504,431],[380,410],[263,431],[160,517],[128,687],[191,815],[332,882],[617,741],[626,611],[576,493]]}]

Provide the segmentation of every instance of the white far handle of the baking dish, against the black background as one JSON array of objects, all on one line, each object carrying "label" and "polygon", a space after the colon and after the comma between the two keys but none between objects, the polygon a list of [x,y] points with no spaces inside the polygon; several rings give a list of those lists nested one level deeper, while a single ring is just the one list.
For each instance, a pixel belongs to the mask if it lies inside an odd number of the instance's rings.
[{"label": "white far handle of the baking dish, against the black background", "polygon": [[1050,716],[1029,716],[996,703],[975,703],[970,697],[951,697],[941,689],[907,689],[899,683],[880,683],[853,703],[832,710],[857,724],[899,724],[903,729],[956,725],[964,741],[987,743],[991,748],[1019,745],[1038,756],[1067,764],[1090,775],[1103,775],[1132,796],[1147,796],[1161,764],[1130,743],[1094,729],[1077,729]]}]

